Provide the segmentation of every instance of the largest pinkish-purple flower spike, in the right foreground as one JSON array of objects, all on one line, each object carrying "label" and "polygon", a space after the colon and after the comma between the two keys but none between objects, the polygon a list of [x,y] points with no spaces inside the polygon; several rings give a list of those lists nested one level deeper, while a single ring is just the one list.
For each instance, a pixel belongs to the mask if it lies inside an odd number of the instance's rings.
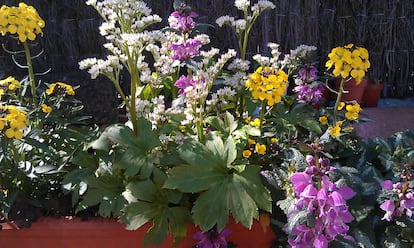
[{"label": "largest pinkish-purple flower spike, in the right foreground", "polygon": [[[353,216],[348,210],[346,200],[356,193],[347,186],[338,187],[329,178],[334,170],[326,158],[306,157],[308,167],[304,172],[296,172],[290,177],[296,198],[295,208],[288,216],[306,212],[315,218],[314,225],[299,223],[291,231],[288,242],[292,247],[328,247],[329,241],[337,235],[353,239],[347,235]],[[313,217],[311,217],[313,216]]]}]

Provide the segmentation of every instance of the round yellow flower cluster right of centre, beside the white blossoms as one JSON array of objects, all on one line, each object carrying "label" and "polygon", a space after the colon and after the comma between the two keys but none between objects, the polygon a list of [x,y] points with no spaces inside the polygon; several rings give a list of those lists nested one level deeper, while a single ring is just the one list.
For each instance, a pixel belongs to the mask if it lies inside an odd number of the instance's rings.
[{"label": "round yellow flower cluster right of centre, beside the white blossoms", "polygon": [[246,87],[252,92],[253,99],[266,100],[268,106],[273,106],[282,100],[287,82],[288,76],[284,71],[259,67],[249,76]]}]

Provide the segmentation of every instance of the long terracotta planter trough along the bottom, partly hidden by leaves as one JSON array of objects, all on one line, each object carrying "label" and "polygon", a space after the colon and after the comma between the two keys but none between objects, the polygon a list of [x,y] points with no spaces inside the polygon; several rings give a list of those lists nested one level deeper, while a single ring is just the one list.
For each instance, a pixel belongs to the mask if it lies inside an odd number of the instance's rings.
[{"label": "long terracotta planter trough along the bottom, partly hidden by leaves", "polygon": [[[0,232],[0,247],[25,248],[113,248],[142,247],[145,233],[150,228],[147,224],[138,230],[128,231],[122,223],[113,219],[97,218],[82,221],[78,218],[41,218],[27,229],[17,230],[7,226]],[[251,230],[230,220],[226,228],[231,230],[227,241],[238,247],[257,248],[270,247],[275,234],[270,228],[266,232],[259,222],[255,222]],[[188,226],[187,236],[178,248],[190,248],[196,244],[193,235],[199,231],[193,225]],[[172,237],[162,243],[161,248],[171,248]],[[149,246],[156,247],[156,246]]]}]

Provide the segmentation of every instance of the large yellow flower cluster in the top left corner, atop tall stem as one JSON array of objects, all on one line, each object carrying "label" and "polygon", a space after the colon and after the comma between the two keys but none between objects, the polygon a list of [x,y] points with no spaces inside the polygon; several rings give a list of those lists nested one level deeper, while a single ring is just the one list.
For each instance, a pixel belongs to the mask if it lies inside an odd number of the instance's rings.
[{"label": "large yellow flower cluster in the top left corner, atop tall stem", "polygon": [[21,42],[35,40],[37,34],[43,34],[45,22],[39,16],[33,6],[19,3],[19,7],[0,8],[0,33],[5,36],[7,33],[17,34]]}]

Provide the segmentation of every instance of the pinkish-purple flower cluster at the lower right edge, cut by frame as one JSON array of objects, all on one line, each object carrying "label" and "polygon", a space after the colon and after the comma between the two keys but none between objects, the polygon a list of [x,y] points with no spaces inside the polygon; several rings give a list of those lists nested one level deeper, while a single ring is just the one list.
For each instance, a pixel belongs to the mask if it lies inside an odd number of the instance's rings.
[{"label": "pinkish-purple flower cluster at the lower right edge, cut by frame", "polygon": [[[412,181],[412,178],[411,178]],[[386,180],[381,183],[382,193],[392,195],[386,199],[380,208],[385,211],[382,220],[391,222],[393,218],[398,218],[405,215],[408,218],[413,217],[414,212],[414,185],[405,184],[401,182],[393,183]]]}]

